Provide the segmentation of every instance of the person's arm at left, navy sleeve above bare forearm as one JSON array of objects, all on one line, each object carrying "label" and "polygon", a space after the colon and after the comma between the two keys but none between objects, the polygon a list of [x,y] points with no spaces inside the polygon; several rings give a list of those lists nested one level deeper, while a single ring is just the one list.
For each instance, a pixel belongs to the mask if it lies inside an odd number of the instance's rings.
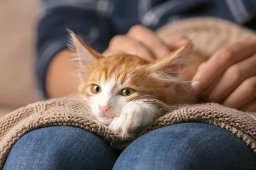
[{"label": "person's arm at left, navy sleeve above bare forearm", "polygon": [[46,9],[38,24],[38,90],[42,99],[76,93],[79,79],[75,75],[75,66],[70,62],[72,51],[67,47],[67,28],[79,34],[87,45],[102,52],[112,37],[108,29],[110,23],[108,18],[101,18],[96,14],[98,0],[41,1]]}]

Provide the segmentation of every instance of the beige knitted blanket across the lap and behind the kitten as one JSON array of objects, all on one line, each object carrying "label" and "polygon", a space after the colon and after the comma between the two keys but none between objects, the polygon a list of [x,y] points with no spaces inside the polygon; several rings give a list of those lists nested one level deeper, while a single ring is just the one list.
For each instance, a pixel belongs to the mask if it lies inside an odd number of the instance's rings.
[{"label": "beige knitted blanket across the lap and behind the kitten", "polygon": [[[225,44],[254,34],[245,28],[214,18],[183,20],[166,25],[157,33],[165,41],[177,34],[196,37],[196,48],[209,55]],[[123,150],[134,139],[151,130],[183,122],[203,122],[230,130],[256,153],[256,118],[250,114],[218,104],[183,106],[171,113],[162,109],[160,113],[161,116],[150,126],[135,134],[133,139],[124,141],[105,125],[99,124],[90,115],[90,109],[77,100],[60,98],[30,104],[0,119],[0,168],[13,144],[21,136],[39,127],[51,125],[77,126],[90,130],[106,139],[112,147]]]}]

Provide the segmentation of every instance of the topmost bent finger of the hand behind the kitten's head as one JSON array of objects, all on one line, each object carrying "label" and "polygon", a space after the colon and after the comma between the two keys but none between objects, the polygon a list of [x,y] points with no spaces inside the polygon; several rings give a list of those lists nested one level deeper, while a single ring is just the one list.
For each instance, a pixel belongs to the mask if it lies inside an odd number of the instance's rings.
[{"label": "topmost bent finger of the hand behind the kitten's head", "polygon": [[157,34],[143,26],[133,26],[127,35],[143,43],[156,58],[164,57],[171,52],[169,46]]}]

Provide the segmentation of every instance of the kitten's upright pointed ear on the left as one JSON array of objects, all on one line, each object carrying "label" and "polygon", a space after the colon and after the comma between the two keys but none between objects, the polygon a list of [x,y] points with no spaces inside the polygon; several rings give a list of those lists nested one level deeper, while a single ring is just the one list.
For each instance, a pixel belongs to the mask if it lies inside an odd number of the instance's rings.
[{"label": "kitten's upright pointed ear on the left", "polygon": [[67,31],[70,34],[70,49],[76,52],[76,58],[73,60],[79,61],[79,67],[88,68],[93,62],[96,62],[97,59],[103,58],[101,54],[88,47],[73,31]]}]

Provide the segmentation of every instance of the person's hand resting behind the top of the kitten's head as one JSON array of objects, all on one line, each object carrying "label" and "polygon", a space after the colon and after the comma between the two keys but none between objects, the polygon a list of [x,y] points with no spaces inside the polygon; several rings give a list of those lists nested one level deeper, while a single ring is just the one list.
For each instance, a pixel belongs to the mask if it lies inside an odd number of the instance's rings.
[{"label": "person's hand resting behind the top of the kitten's head", "polygon": [[113,37],[103,55],[133,54],[151,60],[166,56],[187,41],[186,37],[178,36],[173,42],[166,44],[150,29],[137,25],[127,34]]}]

